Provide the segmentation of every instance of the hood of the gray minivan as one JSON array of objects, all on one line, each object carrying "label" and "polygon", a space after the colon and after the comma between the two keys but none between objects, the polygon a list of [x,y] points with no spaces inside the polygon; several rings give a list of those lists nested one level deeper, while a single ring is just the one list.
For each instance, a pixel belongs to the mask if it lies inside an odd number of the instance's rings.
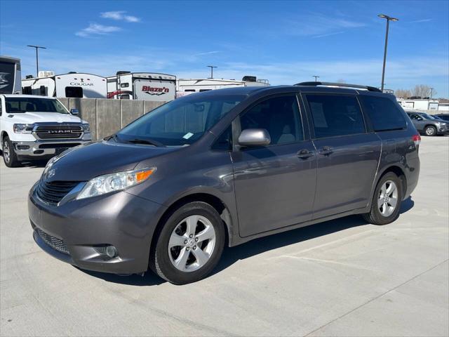
[{"label": "hood of the gray minivan", "polygon": [[135,168],[140,161],[180,150],[179,147],[153,147],[108,142],[80,145],[62,154],[51,166],[54,175],[48,181],[88,181],[97,176]]}]

